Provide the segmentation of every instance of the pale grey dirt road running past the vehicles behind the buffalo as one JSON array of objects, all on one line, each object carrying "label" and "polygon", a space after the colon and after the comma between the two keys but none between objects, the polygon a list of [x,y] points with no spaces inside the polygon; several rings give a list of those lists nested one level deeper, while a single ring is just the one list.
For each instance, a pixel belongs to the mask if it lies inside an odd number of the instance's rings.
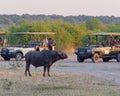
[{"label": "pale grey dirt road running past the vehicles behind the buffalo", "polygon": [[[102,60],[100,60],[99,63],[92,63],[92,61],[89,59],[83,63],[78,63],[76,60],[76,55],[73,53],[69,53],[68,55],[68,59],[56,62],[52,66],[51,71],[77,72],[80,74],[87,73],[110,81],[114,81],[120,85],[120,62],[116,62],[115,60],[102,62]],[[15,61],[0,61],[0,66],[8,67],[11,62],[14,63]],[[25,66],[25,61],[23,60],[21,62],[23,66]]]}]

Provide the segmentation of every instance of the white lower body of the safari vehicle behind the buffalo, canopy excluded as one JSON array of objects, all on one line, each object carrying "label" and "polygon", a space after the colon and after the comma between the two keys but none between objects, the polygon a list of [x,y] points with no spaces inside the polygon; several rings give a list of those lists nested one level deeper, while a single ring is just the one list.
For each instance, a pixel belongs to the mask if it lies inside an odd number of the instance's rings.
[{"label": "white lower body of the safari vehicle behind the buffalo, canopy excluded", "polygon": [[[40,51],[44,48],[40,48]],[[13,46],[13,47],[4,47],[1,49],[1,56],[4,60],[10,60],[11,58],[15,58],[15,60],[21,60],[24,58],[25,54],[28,51],[35,50],[34,47],[29,46]]]}]

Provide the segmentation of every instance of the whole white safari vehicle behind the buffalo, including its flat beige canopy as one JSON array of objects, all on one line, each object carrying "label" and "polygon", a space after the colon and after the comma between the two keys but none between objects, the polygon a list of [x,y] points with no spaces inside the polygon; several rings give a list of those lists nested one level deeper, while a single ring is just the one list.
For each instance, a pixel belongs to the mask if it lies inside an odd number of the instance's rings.
[{"label": "whole white safari vehicle behind the buffalo, including its flat beige canopy", "polygon": [[[54,32],[17,32],[15,35],[41,35],[41,34],[55,34]],[[47,49],[47,47],[39,47],[40,51],[43,49]],[[31,44],[24,44],[20,46],[6,46],[1,49],[1,56],[4,60],[10,60],[11,58],[14,58],[15,60],[21,60],[24,58],[25,54],[28,51],[35,50],[35,47]]]}]

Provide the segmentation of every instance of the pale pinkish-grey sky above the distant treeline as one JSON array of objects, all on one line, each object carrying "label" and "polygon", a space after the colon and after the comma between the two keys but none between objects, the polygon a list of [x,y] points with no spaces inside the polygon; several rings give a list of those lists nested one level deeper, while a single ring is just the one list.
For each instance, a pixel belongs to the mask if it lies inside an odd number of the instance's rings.
[{"label": "pale pinkish-grey sky above the distant treeline", "polygon": [[0,0],[0,14],[120,17],[120,0]]}]

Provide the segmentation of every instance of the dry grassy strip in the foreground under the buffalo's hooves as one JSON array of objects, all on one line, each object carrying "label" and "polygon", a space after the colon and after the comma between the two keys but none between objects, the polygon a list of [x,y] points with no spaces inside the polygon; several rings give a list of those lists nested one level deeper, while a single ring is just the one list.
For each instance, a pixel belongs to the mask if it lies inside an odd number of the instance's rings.
[{"label": "dry grassy strip in the foreground under the buffalo's hooves", "polygon": [[42,77],[42,70],[0,68],[0,96],[120,96],[120,86],[90,74],[55,72]]}]

